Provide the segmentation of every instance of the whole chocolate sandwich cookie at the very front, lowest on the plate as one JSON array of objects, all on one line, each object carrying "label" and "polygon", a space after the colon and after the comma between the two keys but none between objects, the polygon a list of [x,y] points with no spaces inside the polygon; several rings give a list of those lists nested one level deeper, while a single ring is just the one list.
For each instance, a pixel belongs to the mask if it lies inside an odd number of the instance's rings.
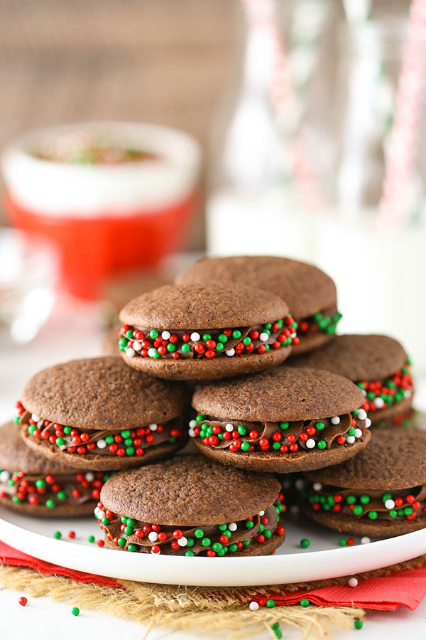
[{"label": "whole chocolate sandwich cookie at the very front, lowest on the plate", "polygon": [[285,538],[280,483],[176,456],[112,476],[95,509],[107,546],[166,555],[266,555]]}]

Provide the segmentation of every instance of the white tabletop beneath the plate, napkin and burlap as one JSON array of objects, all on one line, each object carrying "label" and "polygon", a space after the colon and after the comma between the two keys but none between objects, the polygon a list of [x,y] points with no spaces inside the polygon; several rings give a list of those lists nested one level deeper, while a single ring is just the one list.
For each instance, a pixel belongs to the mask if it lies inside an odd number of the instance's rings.
[{"label": "white tabletop beneath the plate, napkin and burlap", "polygon": [[[99,353],[102,330],[97,325],[96,309],[81,305],[72,311],[63,306],[48,321],[35,340],[27,346],[1,348],[0,355],[0,420],[5,422],[14,415],[14,402],[18,400],[27,378],[40,368],[70,358],[95,356]],[[426,410],[426,380],[420,380],[417,406]],[[74,617],[70,605],[52,602],[48,597],[28,597],[26,607],[18,604],[24,594],[0,588],[0,637],[7,640],[98,640],[106,636],[119,640],[142,640],[145,629],[136,622],[117,619],[81,610]],[[349,634],[336,631],[334,639],[346,640],[400,640],[406,634],[413,639],[425,638],[426,599],[415,612],[400,607],[396,612],[368,612],[361,631]],[[285,640],[295,640],[297,631],[283,628]],[[360,635],[356,635],[360,634]],[[206,636],[187,632],[152,629],[148,640],[223,640],[225,634]],[[265,632],[262,638],[271,638]]]}]

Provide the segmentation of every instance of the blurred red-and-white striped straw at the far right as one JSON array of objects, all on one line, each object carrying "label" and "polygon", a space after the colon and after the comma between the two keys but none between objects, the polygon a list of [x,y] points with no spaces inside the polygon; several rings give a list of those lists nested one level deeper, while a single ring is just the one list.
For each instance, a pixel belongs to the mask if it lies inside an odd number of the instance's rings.
[{"label": "blurred red-and-white striped straw at the far right", "polygon": [[417,151],[426,75],[426,0],[412,0],[395,100],[395,121],[378,210],[381,228],[403,223]]}]

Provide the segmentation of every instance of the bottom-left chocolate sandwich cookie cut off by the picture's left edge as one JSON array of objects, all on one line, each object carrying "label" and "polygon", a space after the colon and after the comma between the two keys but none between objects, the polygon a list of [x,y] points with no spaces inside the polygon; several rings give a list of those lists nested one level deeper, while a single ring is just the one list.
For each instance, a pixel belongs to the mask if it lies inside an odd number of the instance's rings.
[{"label": "bottom-left chocolate sandwich cookie cut off by the picture's left edge", "polygon": [[0,427],[0,504],[28,516],[85,516],[92,513],[103,471],[80,471],[39,456],[23,443],[13,422]]}]

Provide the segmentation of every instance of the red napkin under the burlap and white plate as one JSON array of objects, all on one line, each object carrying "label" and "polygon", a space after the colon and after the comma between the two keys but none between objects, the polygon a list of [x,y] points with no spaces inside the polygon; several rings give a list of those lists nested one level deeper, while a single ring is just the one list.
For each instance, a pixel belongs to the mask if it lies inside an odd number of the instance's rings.
[{"label": "red napkin under the burlap and white plate", "polygon": [[[0,563],[16,567],[31,567],[48,575],[63,575],[77,582],[94,582],[104,587],[121,587],[113,578],[102,575],[92,575],[50,562],[37,560],[31,555],[21,553],[9,545],[0,542]],[[275,600],[275,604],[297,604],[302,598],[307,598],[312,604],[322,607],[355,606],[361,609],[378,609],[379,611],[393,611],[400,605],[415,609],[426,595],[426,567],[410,571],[400,571],[386,577],[371,577],[368,580],[359,580],[356,587],[321,587],[312,591],[297,591],[283,597],[274,594],[273,590],[268,595]],[[253,600],[260,600],[261,594],[253,595]]]}]

